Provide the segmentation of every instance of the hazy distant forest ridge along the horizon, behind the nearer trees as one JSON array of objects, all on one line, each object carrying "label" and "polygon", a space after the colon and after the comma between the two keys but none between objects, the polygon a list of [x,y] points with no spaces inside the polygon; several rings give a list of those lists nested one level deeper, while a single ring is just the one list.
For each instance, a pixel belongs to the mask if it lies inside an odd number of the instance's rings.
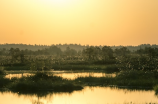
[{"label": "hazy distant forest ridge along the horizon, behind the nearer trees", "polygon": [[[82,51],[83,49],[90,47],[90,45],[80,45],[80,44],[56,44],[56,45],[27,45],[27,44],[0,44],[0,50],[6,49],[9,50],[10,48],[19,48],[20,50],[31,50],[31,51],[37,51],[45,48],[49,48],[51,46],[57,46],[60,48],[62,51],[66,50],[67,47],[70,47],[71,49],[75,49],[76,51]],[[94,46],[95,47],[95,46]],[[99,48],[102,48],[104,46],[98,46]],[[124,46],[110,46],[113,50],[116,48],[122,48]],[[127,47],[130,51],[136,51],[138,49],[145,49],[145,47],[151,47],[151,48],[158,48],[158,45],[156,44],[141,44],[138,46],[125,46]]]}]

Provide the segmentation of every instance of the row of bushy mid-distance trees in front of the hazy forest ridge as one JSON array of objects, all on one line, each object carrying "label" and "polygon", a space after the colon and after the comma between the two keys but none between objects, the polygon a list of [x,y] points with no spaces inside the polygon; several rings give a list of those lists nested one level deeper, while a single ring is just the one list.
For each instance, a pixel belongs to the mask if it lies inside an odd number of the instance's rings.
[{"label": "row of bushy mid-distance trees in front of the hazy forest ridge", "polygon": [[32,51],[32,50],[20,50],[19,48],[10,48],[9,50],[3,48],[0,50],[0,55],[11,56],[12,59],[21,59],[23,60],[24,56],[27,55],[49,55],[52,57],[58,57],[63,59],[82,59],[88,61],[110,61],[115,60],[118,57],[129,57],[129,54],[139,54],[139,56],[147,55],[150,60],[158,57],[158,48],[145,47],[144,49],[140,48],[136,51],[130,51],[127,47],[121,47],[112,49],[110,46],[90,46],[86,47],[82,51],[77,51],[70,47],[67,47],[66,50],[62,51],[57,46],[50,46],[45,49]]}]

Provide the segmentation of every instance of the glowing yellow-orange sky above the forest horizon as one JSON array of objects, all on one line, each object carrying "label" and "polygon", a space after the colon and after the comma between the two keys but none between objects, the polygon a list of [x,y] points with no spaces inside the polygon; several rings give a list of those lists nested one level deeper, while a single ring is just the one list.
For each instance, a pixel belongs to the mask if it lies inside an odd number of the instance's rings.
[{"label": "glowing yellow-orange sky above the forest horizon", "polygon": [[158,0],[0,0],[0,44],[158,44]]}]

